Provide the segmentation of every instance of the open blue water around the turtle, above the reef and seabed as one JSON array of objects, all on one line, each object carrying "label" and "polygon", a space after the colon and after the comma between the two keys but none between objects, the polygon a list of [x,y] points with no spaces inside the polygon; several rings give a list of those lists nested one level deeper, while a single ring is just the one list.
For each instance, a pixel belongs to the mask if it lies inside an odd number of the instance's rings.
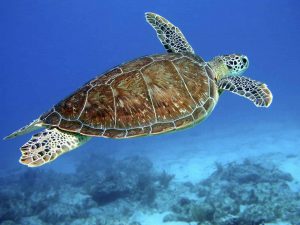
[{"label": "open blue water around the turtle, above the reef and seabed", "polygon": [[[226,146],[230,151],[236,145],[247,148],[247,143],[259,142],[257,152],[281,146],[276,152],[299,154],[297,0],[1,1],[0,137],[26,125],[109,68],[165,52],[145,22],[148,11],[180,27],[196,53],[207,61],[222,54],[247,55],[250,67],[245,75],[268,85],[273,104],[268,109],[256,108],[244,98],[224,93],[211,116],[192,129],[121,141],[95,139],[46,169],[70,172],[72,162],[80,162],[89,151],[126,156],[151,155],[155,150],[159,162],[174,154],[174,149],[210,152],[205,148],[221,151]],[[19,147],[30,137],[0,141],[2,172],[32,170],[18,163]],[[214,157],[218,158],[217,151]]]}]

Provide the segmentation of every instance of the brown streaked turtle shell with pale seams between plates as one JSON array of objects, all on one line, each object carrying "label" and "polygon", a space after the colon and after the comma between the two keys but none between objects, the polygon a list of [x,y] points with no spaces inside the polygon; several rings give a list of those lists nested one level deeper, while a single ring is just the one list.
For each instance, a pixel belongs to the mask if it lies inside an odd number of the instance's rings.
[{"label": "brown streaked turtle shell with pale seams between plates", "polygon": [[200,122],[219,98],[210,66],[189,53],[145,56],[85,84],[40,119],[87,136],[128,138]]}]

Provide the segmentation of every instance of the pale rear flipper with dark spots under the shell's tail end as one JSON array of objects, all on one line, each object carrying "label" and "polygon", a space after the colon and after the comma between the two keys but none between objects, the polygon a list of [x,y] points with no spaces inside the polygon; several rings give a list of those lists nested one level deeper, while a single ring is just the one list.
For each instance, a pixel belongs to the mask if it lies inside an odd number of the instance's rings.
[{"label": "pale rear flipper with dark spots under the shell's tail end", "polygon": [[57,128],[45,129],[33,135],[21,147],[22,156],[19,161],[29,167],[41,166],[79,147],[89,139],[88,136],[61,131]]}]

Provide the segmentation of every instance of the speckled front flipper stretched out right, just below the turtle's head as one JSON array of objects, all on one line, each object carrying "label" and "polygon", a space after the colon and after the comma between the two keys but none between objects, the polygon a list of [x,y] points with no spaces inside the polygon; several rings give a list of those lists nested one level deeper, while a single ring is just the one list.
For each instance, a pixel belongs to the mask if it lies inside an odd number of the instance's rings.
[{"label": "speckled front flipper stretched out right, just below the turtle's head", "polygon": [[257,107],[269,107],[273,96],[267,85],[243,76],[229,76],[218,82],[219,89],[250,99]]}]

